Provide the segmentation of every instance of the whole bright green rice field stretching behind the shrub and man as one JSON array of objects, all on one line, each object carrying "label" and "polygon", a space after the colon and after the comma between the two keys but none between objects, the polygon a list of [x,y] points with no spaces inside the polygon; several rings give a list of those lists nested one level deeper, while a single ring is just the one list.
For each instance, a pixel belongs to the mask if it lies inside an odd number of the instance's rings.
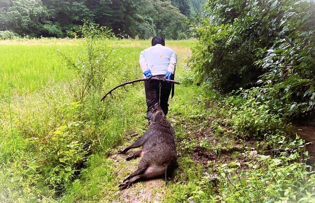
[{"label": "whole bright green rice field stretching behind the shrub and man", "polygon": [[[0,93],[32,93],[52,83],[73,79],[72,72],[56,50],[71,54],[78,48],[79,40],[39,39],[0,41]],[[184,64],[192,41],[167,42],[178,52],[179,63]],[[136,66],[139,53],[150,46],[149,41],[119,41],[115,43],[119,55]],[[123,47],[123,49],[121,48]],[[181,64],[181,65],[182,65]],[[137,70],[139,71],[139,70]],[[1,95],[0,94],[0,95]]]}]

